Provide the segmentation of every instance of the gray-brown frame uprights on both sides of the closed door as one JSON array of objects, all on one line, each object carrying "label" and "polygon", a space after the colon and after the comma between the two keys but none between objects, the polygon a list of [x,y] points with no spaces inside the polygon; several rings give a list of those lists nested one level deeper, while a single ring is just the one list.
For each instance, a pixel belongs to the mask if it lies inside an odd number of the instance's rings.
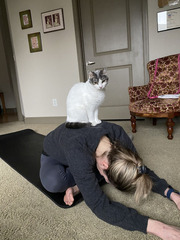
[{"label": "gray-brown frame uprights on both sides of the closed door", "polygon": [[[148,2],[147,0],[141,0],[141,1],[142,1],[142,26],[143,26],[142,32],[143,32],[143,53],[144,53],[143,54],[144,84],[147,84],[148,83],[147,63],[149,61]],[[73,6],[80,81],[84,82],[86,81],[87,74],[86,74],[85,54],[84,54],[84,46],[83,46],[83,31],[82,31],[82,23],[81,23],[80,0],[72,0],[72,6]]]}]

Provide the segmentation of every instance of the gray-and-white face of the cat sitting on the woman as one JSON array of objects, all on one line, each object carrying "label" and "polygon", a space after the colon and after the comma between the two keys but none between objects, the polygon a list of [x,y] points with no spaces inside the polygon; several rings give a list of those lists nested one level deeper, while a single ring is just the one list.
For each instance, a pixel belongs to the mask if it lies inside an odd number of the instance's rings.
[{"label": "gray-and-white face of the cat sitting on the woman", "polygon": [[89,82],[98,90],[104,89],[108,84],[108,80],[105,69],[89,72]]}]

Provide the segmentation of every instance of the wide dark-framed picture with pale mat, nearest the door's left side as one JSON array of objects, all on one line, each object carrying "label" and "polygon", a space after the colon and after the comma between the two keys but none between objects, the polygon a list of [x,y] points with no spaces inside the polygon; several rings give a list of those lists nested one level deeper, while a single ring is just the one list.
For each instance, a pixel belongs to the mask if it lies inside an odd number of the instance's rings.
[{"label": "wide dark-framed picture with pale mat, nearest the door's left side", "polygon": [[62,8],[41,13],[41,16],[44,33],[65,29]]}]

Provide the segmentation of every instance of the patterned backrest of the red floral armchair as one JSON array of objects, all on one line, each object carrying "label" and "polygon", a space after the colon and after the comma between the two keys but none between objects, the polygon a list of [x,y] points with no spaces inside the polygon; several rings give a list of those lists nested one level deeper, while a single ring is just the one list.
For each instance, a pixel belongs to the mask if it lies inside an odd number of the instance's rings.
[{"label": "patterned backrest of the red floral armchair", "polygon": [[159,58],[156,77],[154,78],[155,65],[156,61],[154,60],[147,65],[151,89],[149,97],[179,93],[178,54]]}]

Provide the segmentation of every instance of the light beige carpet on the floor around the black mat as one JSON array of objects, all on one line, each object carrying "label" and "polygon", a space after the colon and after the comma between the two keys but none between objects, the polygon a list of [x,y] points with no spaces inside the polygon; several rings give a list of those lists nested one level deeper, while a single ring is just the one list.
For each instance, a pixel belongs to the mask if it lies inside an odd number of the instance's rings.
[{"label": "light beige carpet on the floor around the black mat", "polygon": [[[131,132],[129,121],[116,122]],[[0,134],[31,128],[46,135],[57,124],[0,124]],[[134,145],[145,164],[180,190],[180,122],[176,120],[174,139],[167,139],[165,120],[153,126],[150,120],[137,122]],[[131,232],[98,219],[84,201],[62,209],[0,159],[0,239],[1,240],[157,240],[150,234]],[[103,187],[113,200],[137,209],[141,214],[180,227],[180,213],[170,200],[151,193],[137,205],[132,194],[110,185]]]}]

